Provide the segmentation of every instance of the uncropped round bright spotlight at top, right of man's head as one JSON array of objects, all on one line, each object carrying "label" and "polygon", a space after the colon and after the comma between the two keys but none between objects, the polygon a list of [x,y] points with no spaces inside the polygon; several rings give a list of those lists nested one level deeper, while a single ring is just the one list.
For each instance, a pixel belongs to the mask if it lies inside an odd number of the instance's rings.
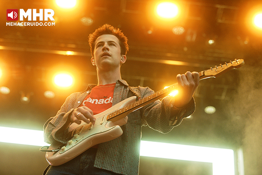
[{"label": "uncropped round bright spotlight at top, right of man's head", "polygon": [[171,19],[179,13],[179,8],[173,2],[161,2],[157,5],[156,12],[159,17]]}]

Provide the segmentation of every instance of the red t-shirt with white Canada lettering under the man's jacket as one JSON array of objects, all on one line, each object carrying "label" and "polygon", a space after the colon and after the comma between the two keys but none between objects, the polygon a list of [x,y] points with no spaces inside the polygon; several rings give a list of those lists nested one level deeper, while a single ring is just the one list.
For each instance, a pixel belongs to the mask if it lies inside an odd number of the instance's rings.
[{"label": "red t-shirt with white Canada lettering under the man's jacket", "polygon": [[94,115],[99,114],[112,107],[114,89],[115,83],[96,86],[92,88],[80,106],[85,105],[93,111]]}]

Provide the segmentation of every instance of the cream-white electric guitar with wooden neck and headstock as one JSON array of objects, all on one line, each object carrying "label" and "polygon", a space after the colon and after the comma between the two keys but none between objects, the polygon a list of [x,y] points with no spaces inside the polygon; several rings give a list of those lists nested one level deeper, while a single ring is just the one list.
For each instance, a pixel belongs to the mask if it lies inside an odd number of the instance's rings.
[{"label": "cream-white electric guitar with wooden neck and headstock", "polygon": [[[200,80],[202,80],[210,77],[217,77],[231,69],[239,68],[244,64],[245,62],[243,59],[235,59],[224,65],[220,64],[218,67],[215,66],[214,68],[203,70],[198,73]],[[136,96],[130,97],[95,115],[97,120],[94,125],[84,122],[81,124],[72,123],[68,128],[67,143],[62,144],[60,142],[54,142],[49,146],[48,150],[45,150],[47,152],[46,159],[48,163],[53,166],[64,164],[98,143],[114,140],[121,136],[123,131],[120,126],[127,123],[127,115],[129,113],[167,96],[176,88],[177,83],[137,101]],[[182,119],[178,119],[177,125],[181,122]],[[40,148],[40,151],[44,151],[42,148]]]}]

